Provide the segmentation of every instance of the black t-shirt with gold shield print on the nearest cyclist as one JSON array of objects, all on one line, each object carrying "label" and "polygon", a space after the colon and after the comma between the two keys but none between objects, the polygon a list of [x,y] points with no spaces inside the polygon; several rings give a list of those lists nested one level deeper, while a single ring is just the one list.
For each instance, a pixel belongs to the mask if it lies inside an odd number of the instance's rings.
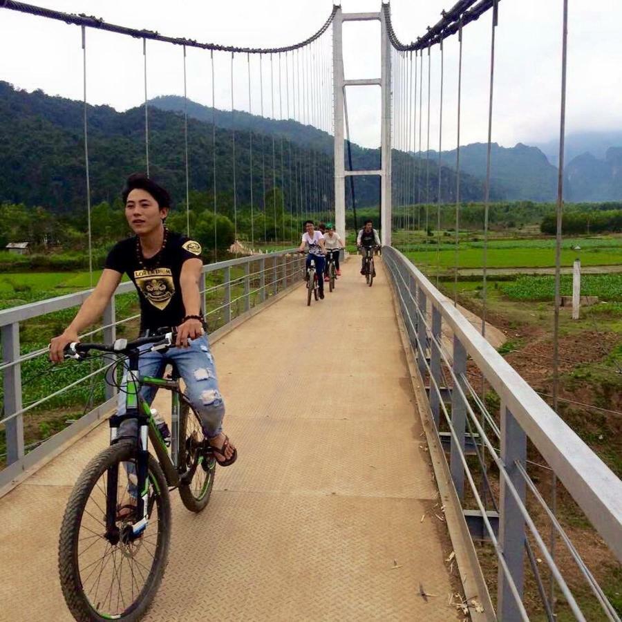
[{"label": "black t-shirt with gold shield print on the nearest cyclist", "polygon": [[127,274],[136,286],[141,332],[180,325],[186,315],[179,283],[182,265],[187,259],[200,258],[200,254],[198,242],[168,232],[164,250],[143,259],[143,267],[138,261],[135,237],[115,244],[106,258],[105,267]]}]

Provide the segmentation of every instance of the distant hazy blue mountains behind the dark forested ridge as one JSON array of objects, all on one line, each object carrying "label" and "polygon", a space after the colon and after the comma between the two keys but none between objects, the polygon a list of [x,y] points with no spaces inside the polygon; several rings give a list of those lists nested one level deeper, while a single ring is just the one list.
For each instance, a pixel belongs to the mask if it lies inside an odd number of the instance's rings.
[{"label": "distant hazy blue mountains behind the dark forested ridge", "polygon": [[[186,103],[183,97],[168,95],[157,97],[150,102],[160,109],[181,113]],[[212,109],[196,102],[187,103],[187,113],[204,122],[212,122]],[[314,148],[332,152],[332,136],[323,133],[317,138],[318,131],[312,126],[303,126],[292,133],[292,122],[275,121],[255,117],[248,113],[214,111],[216,124],[222,127],[248,131],[250,127],[270,132],[272,127],[288,135],[292,140],[299,137]],[[567,136],[565,141],[565,200],[570,202],[607,201],[622,199],[622,173],[619,173],[619,151],[614,145],[622,145],[622,131],[619,132],[584,132]],[[558,142],[528,146],[518,143],[515,147],[501,147],[494,142],[491,145],[491,198],[497,200],[531,200],[549,202],[557,197],[557,167],[552,162],[558,160]],[[413,154],[417,159],[417,154]],[[425,160],[427,152],[420,155]],[[438,160],[438,153],[429,152],[433,170]],[[455,149],[443,151],[441,162],[451,171],[456,167]],[[482,199],[483,182],[486,176],[487,144],[475,142],[460,147],[460,170],[480,180],[480,196]],[[379,167],[379,149],[364,149],[352,144],[352,168],[375,169]],[[422,162],[423,164],[423,162]],[[415,164],[415,167],[417,164]],[[395,162],[394,162],[395,170]],[[364,184],[366,178],[357,178],[358,184]],[[455,179],[455,176],[451,176]],[[437,177],[435,176],[435,180]],[[471,181],[471,180],[468,180]],[[437,181],[431,183],[431,200],[436,200]],[[367,193],[366,193],[367,194]],[[471,192],[464,195],[466,199]],[[453,198],[453,189],[449,183],[443,193],[444,200]]]}]

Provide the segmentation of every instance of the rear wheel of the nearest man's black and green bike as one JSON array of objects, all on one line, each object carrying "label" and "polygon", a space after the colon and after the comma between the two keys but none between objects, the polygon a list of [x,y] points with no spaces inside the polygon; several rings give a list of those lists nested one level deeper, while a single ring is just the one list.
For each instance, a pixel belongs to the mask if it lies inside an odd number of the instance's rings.
[{"label": "rear wheel of the nearest man's black and green bike", "polygon": [[209,503],[211,487],[214,486],[216,458],[206,453],[207,440],[199,415],[194,408],[182,402],[179,413],[179,460],[183,469],[180,474],[179,496],[191,512],[200,512]]}]

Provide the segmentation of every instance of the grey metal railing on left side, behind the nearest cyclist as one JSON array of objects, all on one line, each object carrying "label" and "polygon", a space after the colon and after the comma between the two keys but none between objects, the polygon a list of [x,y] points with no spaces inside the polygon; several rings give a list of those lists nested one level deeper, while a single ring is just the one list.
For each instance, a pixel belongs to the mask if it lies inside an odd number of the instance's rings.
[{"label": "grey metal railing on left side, behind the nearest cyclist", "polygon": [[[229,324],[237,318],[248,317],[254,308],[263,305],[269,299],[294,285],[302,282],[304,258],[294,254],[294,249],[281,252],[258,254],[220,261],[203,266],[202,287],[203,310],[210,337],[227,330]],[[54,312],[77,308],[84,303],[92,290],[57,296],[19,307],[0,311],[0,343],[2,361],[0,373],[3,376],[3,407],[0,410],[0,430],[4,426],[6,434],[6,467],[0,471],[0,489],[17,478],[23,471],[35,466],[56,451],[75,435],[104,417],[115,406],[117,390],[106,384],[105,401],[84,413],[68,427],[44,440],[26,446],[24,441],[24,417],[37,413],[50,399],[64,395],[77,386],[91,380],[102,382],[104,375],[111,373],[111,359],[95,370],[88,369],[86,375],[53,390],[28,404],[23,401],[22,369],[24,364],[46,357],[48,348],[38,348],[21,353],[20,327],[28,320],[33,320]],[[109,305],[104,310],[102,326],[81,335],[88,337],[100,333],[100,338],[111,343],[116,339],[117,327],[136,321],[140,314],[117,320],[117,296],[135,292],[131,281],[121,283]],[[138,304],[138,297],[136,298]],[[29,451],[30,450],[30,451]]]}]

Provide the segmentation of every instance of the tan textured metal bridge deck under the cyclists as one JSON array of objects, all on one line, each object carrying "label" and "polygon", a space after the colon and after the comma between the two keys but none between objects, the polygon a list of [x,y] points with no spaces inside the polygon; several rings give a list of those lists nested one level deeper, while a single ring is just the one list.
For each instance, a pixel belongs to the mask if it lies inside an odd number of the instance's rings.
[{"label": "tan textured metal bridge deck under the cyclists", "polygon": [[[451,543],[379,264],[371,289],[350,261],[324,301],[306,308],[295,290],[213,344],[240,457],[218,469],[203,513],[171,496],[170,561],[147,619],[457,619]],[[0,500],[0,619],[69,618],[59,523],[106,440],[95,428]]]}]

